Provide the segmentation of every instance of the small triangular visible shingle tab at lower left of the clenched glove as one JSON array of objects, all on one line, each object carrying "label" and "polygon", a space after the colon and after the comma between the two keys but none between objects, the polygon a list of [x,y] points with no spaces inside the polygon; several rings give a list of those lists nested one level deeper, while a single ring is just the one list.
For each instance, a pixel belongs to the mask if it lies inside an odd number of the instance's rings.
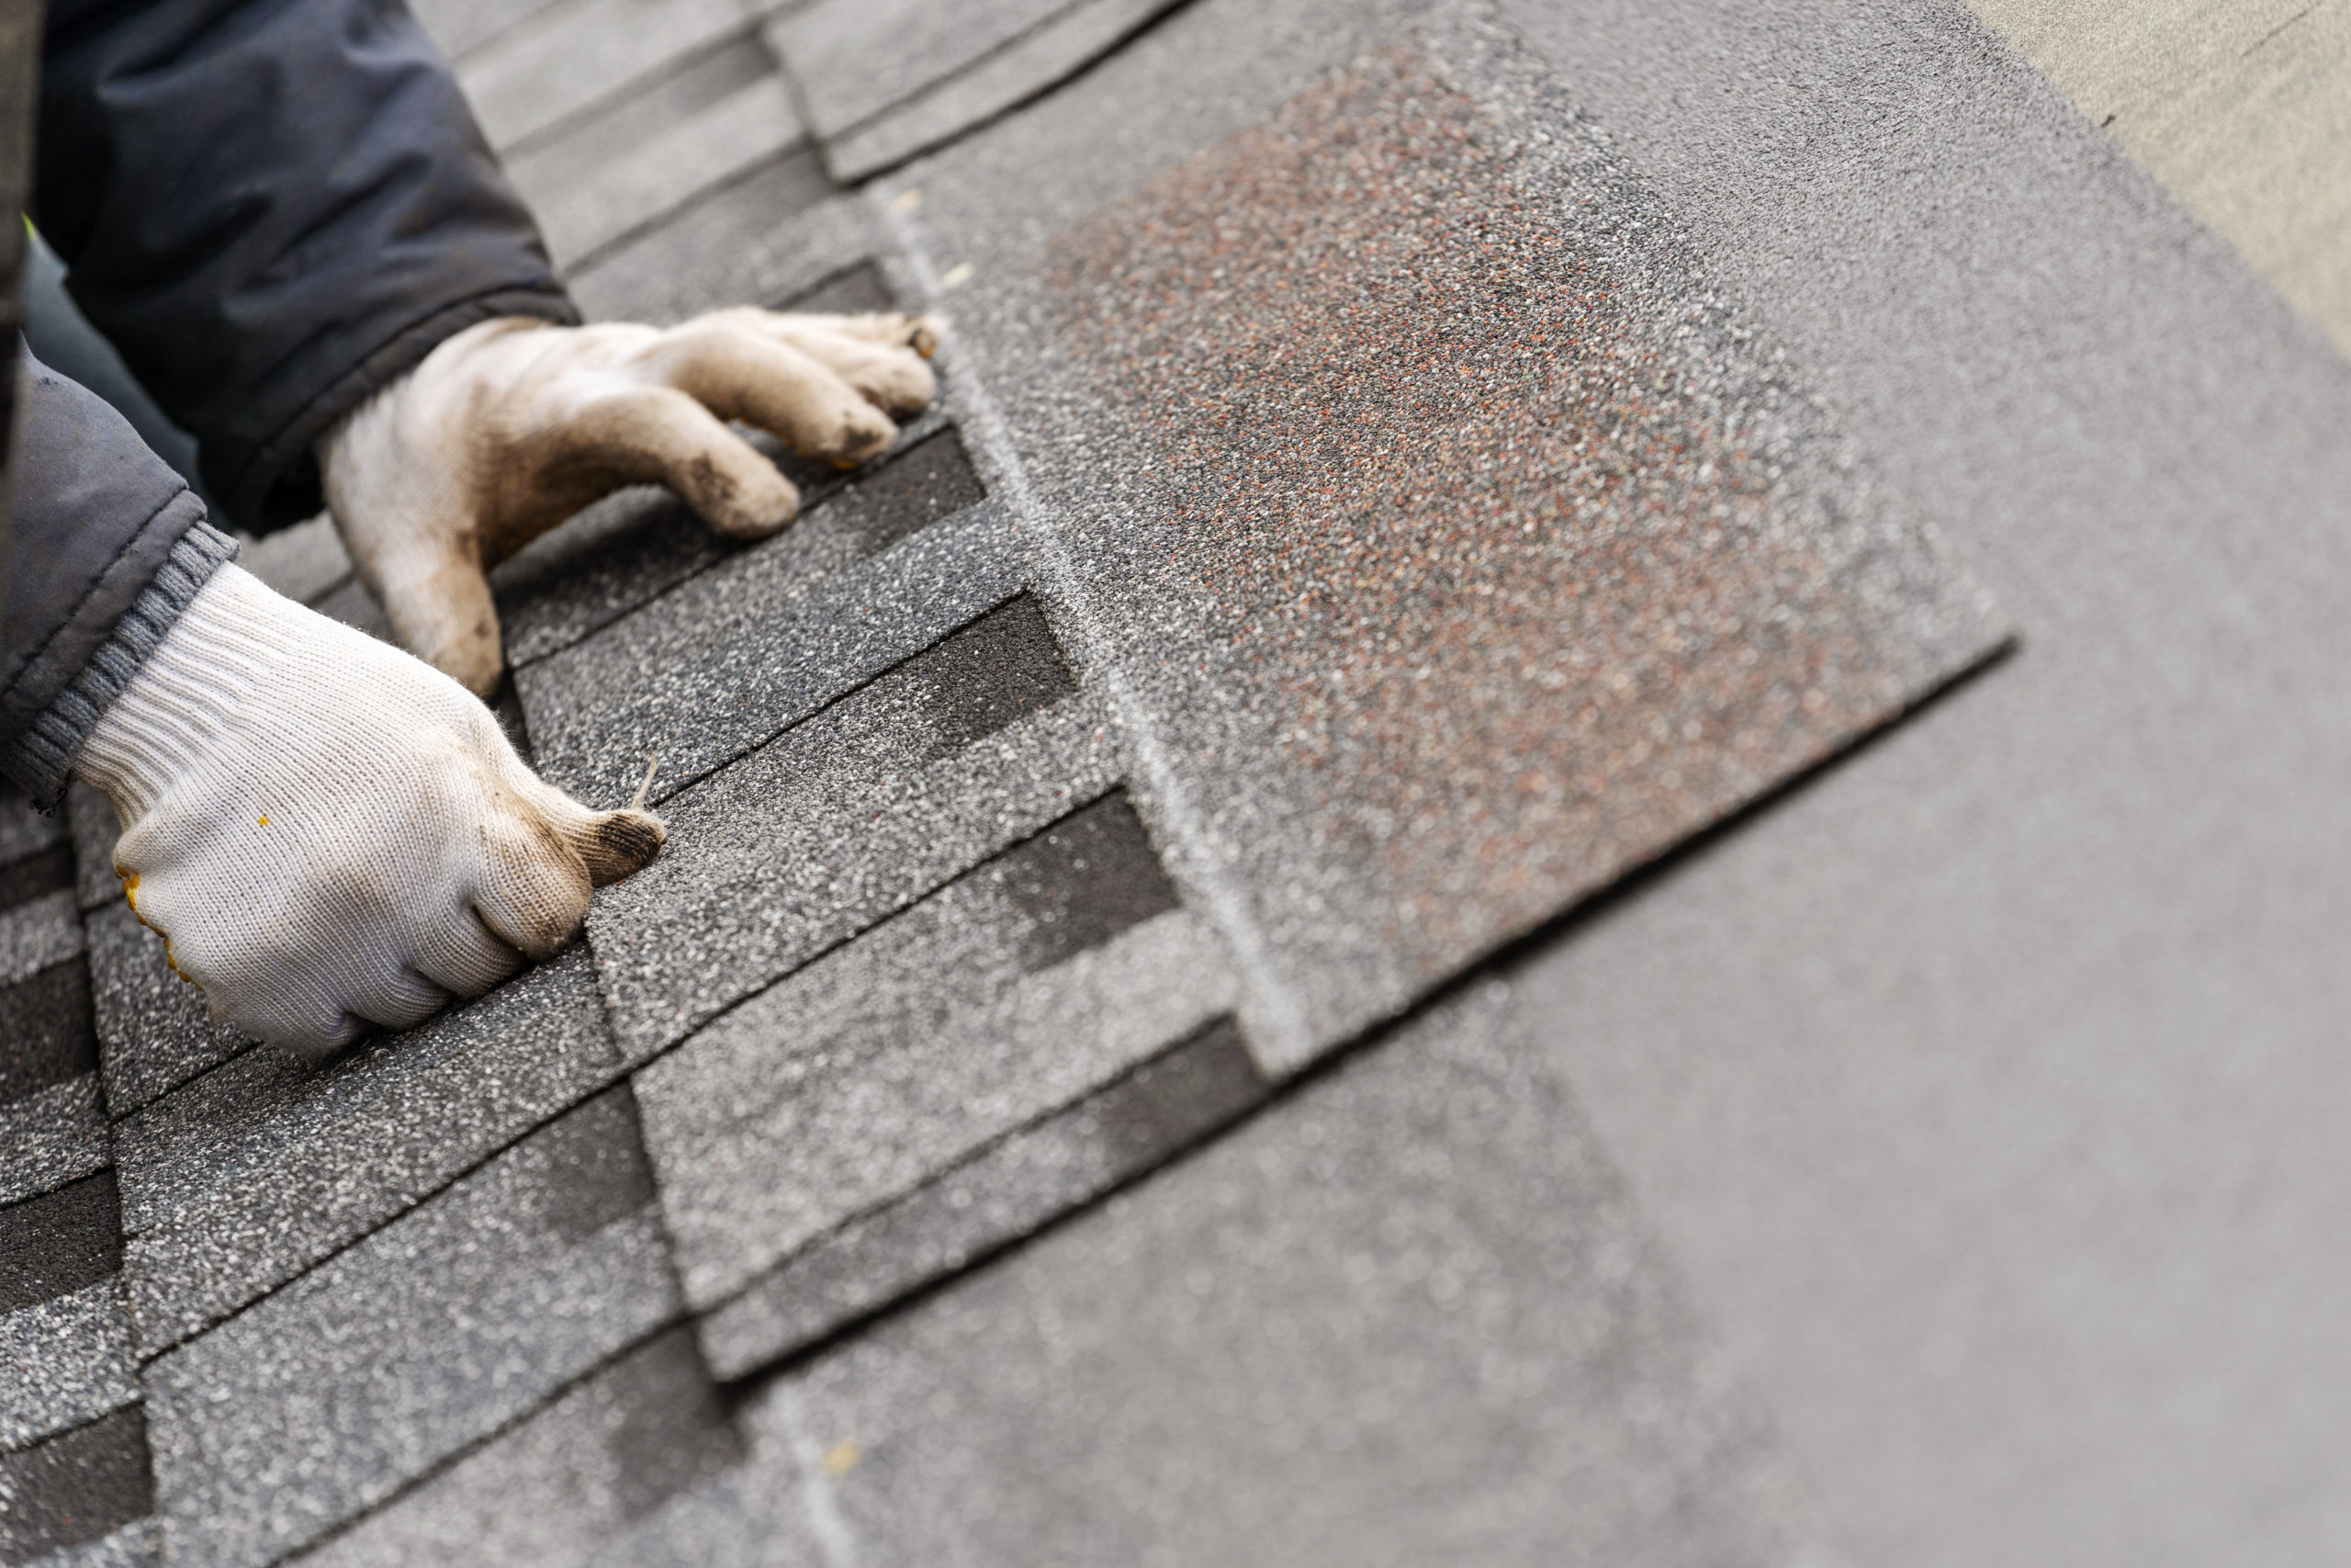
[{"label": "small triangular visible shingle tab at lower left of the clenched glove", "polygon": [[125,900],[94,910],[87,929],[99,1058],[115,1117],[254,1048],[256,1041],[212,1020],[205,992],[172,973],[162,938]]}]

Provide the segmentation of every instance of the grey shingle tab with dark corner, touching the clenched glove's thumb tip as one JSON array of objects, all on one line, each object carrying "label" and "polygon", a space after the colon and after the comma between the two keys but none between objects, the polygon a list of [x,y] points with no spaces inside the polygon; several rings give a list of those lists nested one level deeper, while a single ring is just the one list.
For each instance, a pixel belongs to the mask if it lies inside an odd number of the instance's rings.
[{"label": "grey shingle tab with dark corner, touching the clenched glove's thumb tip", "polygon": [[[672,797],[670,846],[588,914],[632,1060],[1107,790],[1117,743],[1037,670],[1023,599]],[[1002,654],[1049,703],[952,750],[957,663]],[[1027,661],[1027,663],[1023,663]],[[1065,675],[1060,679],[1067,679]],[[1067,691],[1067,686],[1058,686]]]}]

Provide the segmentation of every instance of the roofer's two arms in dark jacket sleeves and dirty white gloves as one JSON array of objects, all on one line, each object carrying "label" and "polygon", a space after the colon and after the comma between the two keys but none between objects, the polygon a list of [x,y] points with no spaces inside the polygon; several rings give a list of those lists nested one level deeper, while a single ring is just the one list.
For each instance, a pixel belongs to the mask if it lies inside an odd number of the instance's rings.
[{"label": "roofer's two arms in dark jacket sleeves and dirty white gloves", "polygon": [[[395,628],[498,675],[482,567],[672,480],[734,534],[797,498],[722,418],[858,461],[931,381],[907,317],[576,329],[529,214],[393,0],[54,0],[35,216],[200,440],[235,522],[334,496]],[[118,870],[214,1013],[301,1051],[560,945],[658,851],[541,783],[461,684],[223,564],[110,409],[35,374],[0,766],[122,818]]]}]

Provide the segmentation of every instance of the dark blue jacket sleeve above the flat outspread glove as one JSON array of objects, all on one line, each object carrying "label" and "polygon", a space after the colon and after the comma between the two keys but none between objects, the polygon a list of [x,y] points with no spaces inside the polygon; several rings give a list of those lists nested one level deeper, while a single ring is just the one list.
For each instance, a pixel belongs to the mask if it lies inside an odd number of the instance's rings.
[{"label": "dark blue jacket sleeve above the flat outspread glove", "polygon": [[49,0],[33,216],[237,527],[491,315],[578,320],[400,0]]}]

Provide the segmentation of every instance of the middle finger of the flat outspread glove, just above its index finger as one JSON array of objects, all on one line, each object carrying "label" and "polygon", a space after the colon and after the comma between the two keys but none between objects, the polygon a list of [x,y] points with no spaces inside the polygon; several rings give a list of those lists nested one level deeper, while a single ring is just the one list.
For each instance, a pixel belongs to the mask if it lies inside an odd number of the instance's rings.
[{"label": "middle finger of the flat outspread glove, just above its index finger", "polygon": [[839,374],[790,343],[722,320],[663,334],[644,350],[642,369],[719,418],[759,425],[792,451],[844,468],[879,456],[898,437],[898,425]]}]

